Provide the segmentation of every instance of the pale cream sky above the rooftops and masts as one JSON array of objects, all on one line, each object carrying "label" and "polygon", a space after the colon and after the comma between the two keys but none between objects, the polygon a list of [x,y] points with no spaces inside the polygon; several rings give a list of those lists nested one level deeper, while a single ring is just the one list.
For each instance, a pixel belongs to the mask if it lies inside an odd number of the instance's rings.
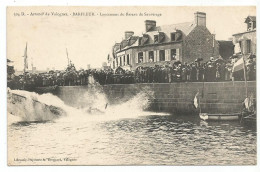
[{"label": "pale cream sky above the rooftops and masts", "polygon": [[[232,34],[246,31],[245,18],[256,15],[255,7],[242,6],[8,7],[7,58],[13,61],[16,70],[23,70],[27,42],[29,69],[32,63],[37,70],[64,69],[68,63],[66,48],[76,69],[86,69],[88,64],[93,68],[101,67],[114,43],[124,38],[125,31],[134,31],[135,35],[144,33],[145,20],[156,20],[157,26],[191,22],[196,11],[206,13],[207,28],[216,34],[217,40],[228,40]],[[68,16],[52,15],[52,12]],[[77,12],[95,16],[73,16]],[[26,15],[21,16],[22,13]],[[34,13],[39,15],[31,15]],[[120,16],[121,13],[124,16]],[[137,16],[126,16],[126,13]]]}]

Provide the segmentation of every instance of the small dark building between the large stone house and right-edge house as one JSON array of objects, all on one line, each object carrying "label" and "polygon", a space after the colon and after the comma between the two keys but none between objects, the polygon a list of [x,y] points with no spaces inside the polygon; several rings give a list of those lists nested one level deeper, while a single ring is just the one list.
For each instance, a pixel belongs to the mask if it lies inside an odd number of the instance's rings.
[{"label": "small dark building between the large stone house and right-edge house", "polygon": [[234,54],[234,47],[232,41],[218,41],[219,55],[224,59],[229,59]]}]

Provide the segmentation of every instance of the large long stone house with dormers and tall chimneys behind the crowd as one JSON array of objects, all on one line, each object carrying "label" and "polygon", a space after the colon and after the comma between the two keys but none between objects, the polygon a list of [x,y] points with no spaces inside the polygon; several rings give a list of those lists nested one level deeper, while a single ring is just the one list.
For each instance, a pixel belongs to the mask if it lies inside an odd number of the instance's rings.
[{"label": "large long stone house with dormers and tall chimneys behind the crowd", "polygon": [[206,27],[206,13],[196,12],[194,21],[157,26],[145,21],[145,32],[134,35],[125,32],[125,39],[112,47],[112,68],[169,64],[177,60],[193,62],[196,58],[209,60],[219,57],[219,44]]}]

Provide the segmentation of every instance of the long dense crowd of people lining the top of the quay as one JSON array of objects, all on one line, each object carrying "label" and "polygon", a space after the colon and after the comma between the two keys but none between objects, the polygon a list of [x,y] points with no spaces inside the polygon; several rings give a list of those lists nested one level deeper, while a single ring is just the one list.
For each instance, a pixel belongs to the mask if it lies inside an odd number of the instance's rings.
[{"label": "long dense crowd of people lining the top of the quay", "polygon": [[[124,70],[118,67],[113,69],[89,69],[76,70],[73,64],[65,71],[49,71],[45,73],[24,73],[15,76],[8,81],[8,87],[12,89],[33,89],[35,87],[48,86],[76,86],[88,85],[89,76],[93,76],[100,85],[105,84],[132,84],[132,83],[172,83],[172,82],[217,82],[244,80],[244,73],[232,73],[233,63],[222,59],[211,58],[207,62],[203,59],[187,64],[177,61],[173,64],[155,65],[153,67],[139,66],[135,70]],[[256,79],[256,63],[248,59],[247,80]]]}]

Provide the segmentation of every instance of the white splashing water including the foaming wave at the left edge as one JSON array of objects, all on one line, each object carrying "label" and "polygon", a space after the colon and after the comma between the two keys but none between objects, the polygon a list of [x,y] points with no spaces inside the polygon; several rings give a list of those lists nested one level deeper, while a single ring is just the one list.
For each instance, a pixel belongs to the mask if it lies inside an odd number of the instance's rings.
[{"label": "white splashing water including the foaming wave at the left edge", "polygon": [[[146,112],[149,107],[149,98],[153,96],[153,92],[144,88],[136,96],[128,101],[118,102],[114,105],[108,105],[108,100],[103,90],[99,85],[93,85],[79,97],[84,106],[74,108],[67,106],[57,96],[52,94],[39,95],[34,92],[27,92],[21,90],[11,90],[11,93],[26,97],[23,101],[16,101],[15,104],[12,100],[8,101],[8,112],[13,115],[19,116],[22,121],[46,121],[46,120],[62,120],[62,121],[75,121],[75,122],[88,122],[88,121],[104,121],[104,120],[117,120],[122,118],[137,118],[140,116],[149,115],[165,115],[165,113]],[[34,103],[34,101],[40,103]],[[43,104],[42,106],[40,104]],[[53,114],[48,106],[54,106],[62,109],[65,113],[62,115]],[[66,115],[65,115],[66,114]],[[60,118],[66,116],[65,118]]]}]

